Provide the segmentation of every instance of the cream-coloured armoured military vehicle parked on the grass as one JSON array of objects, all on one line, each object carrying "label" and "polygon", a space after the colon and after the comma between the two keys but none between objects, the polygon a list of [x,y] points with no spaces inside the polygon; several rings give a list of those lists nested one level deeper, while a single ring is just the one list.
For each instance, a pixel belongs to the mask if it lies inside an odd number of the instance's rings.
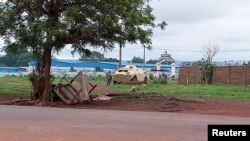
[{"label": "cream-coloured armoured military vehicle parked on the grass", "polygon": [[113,83],[138,84],[147,83],[149,73],[137,69],[135,65],[127,65],[112,73]]}]

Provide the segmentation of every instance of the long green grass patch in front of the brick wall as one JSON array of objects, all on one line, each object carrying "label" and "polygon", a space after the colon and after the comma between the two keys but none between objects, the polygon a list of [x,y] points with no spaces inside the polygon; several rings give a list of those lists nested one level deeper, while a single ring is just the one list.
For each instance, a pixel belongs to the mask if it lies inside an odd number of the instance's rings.
[{"label": "long green grass patch in front of the brick wall", "polygon": [[250,100],[249,86],[216,84],[185,86],[169,81],[167,85],[158,85],[150,82],[148,86],[141,86],[141,88],[146,93],[157,92],[168,95]]}]

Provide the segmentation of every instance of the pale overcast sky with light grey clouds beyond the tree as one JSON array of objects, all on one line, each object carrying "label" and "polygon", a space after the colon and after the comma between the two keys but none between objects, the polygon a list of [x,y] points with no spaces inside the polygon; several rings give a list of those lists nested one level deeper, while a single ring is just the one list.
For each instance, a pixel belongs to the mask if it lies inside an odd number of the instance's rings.
[{"label": "pale overcast sky with light grey clouds beyond the tree", "polygon": [[[175,60],[200,60],[201,48],[209,42],[219,47],[215,61],[250,60],[250,0],[153,0],[151,5],[156,20],[168,26],[155,30],[153,50],[146,51],[146,60],[158,59],[165,50]],[[117,46],[104,54],[118,58],[118,53]],[[143,57],[143,48],[128,44],[122,56],[123,60]],[[72,58],[68,49],[56,57]]]}]

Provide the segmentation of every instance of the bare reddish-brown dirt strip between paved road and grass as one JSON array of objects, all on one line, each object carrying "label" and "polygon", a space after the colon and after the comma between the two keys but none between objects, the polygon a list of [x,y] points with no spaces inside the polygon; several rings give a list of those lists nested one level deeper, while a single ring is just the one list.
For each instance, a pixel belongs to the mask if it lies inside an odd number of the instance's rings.
[{"label": "bare reddish-brown dirt strip between paved road and grass", "polygon": [[[109,101],[93,101],[83,104],[65,105],[62,102],[50,102],[51,107],[112,109],[151,112],[178,112],[191,114],[230,115],[250,117],[250,101],[222,100],[209,98],[193,98],[178,96],[163,96],[157,93],[121,94],[106,86],[97,87],[94,93],[109,94]],[[91,95],[91,99],[95,98]],[[29,101],[29,95],[1,95],[1,104],[36,105],[36,101]]]}]

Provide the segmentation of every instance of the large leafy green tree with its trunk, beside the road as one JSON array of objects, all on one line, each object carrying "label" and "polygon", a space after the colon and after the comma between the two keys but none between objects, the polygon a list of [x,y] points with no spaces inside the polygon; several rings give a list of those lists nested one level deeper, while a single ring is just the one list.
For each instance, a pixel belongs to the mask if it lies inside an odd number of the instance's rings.
[{"label": "large leafy green tree with its trunk, beside the road", "polygon": [[109,49],[114,44],[151,47],[154,23],[149,0],[8,0],[0,2],[0,36],[5,48],[32,49],[41,56],[40,99],[49,97],[51,56],[71,45]]}]

